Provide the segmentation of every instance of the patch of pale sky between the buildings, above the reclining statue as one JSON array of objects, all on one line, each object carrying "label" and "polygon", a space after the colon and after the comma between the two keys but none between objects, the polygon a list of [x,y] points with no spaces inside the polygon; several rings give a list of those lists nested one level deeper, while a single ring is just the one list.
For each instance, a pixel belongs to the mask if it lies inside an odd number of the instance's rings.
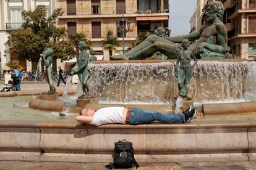
[{"label": "patch of pale sky between the buildings, above the reclining statue", "polygon": [[169,0],[169,29],[171,36],[190,32],[189,20],[192,17],[197,0]]}]

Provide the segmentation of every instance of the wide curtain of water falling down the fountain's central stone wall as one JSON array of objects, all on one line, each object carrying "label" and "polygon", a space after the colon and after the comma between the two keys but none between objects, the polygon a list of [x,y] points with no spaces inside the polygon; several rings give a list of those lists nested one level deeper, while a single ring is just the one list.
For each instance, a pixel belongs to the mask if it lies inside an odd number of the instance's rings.
[{"label": "wide curtain of water falling down the fountain's central stone wall", "polygon": [[[91,64],[90,92],[101,103],[171,103],[178,94],[174,63]],[[194,102],[256,100],[256,62],[199,61],[189,97]]]}]

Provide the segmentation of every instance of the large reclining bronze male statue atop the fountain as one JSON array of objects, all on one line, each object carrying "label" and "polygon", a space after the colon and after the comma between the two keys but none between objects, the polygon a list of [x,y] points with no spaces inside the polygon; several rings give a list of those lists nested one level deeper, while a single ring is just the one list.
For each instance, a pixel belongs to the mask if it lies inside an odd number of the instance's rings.
[{"label": "large reclining bronze male statue atop the fountain", "polygon": [[228,47],[228,34],[226,27],[221,22],[224,7],[220,1],[212,1],[207,5],[205,13],[208,22],[207,26],[193,31],[190,34],[161,38],[157,35],[150,35],[147,39],[141,42],[137,47],[134,47],[126,54],[114,55],[111,59],[114,60],[139,60],[151,57],[156,51],[168,56],[168,59],[176,59],[177,54],[181,51],[181,47],[176,43],[181,43],[184,39],[195,41],[188,49],[197,56],[198,59],[223,59],[230,58]]}]

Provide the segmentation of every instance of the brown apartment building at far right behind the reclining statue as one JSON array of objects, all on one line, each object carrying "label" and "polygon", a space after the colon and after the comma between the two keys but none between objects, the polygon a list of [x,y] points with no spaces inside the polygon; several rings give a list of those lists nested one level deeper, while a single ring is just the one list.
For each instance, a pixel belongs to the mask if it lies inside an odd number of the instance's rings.
[{"label": "brown apartment building at far right behind the reclining statue", "polygon": [[252,60],[256,56],[256,1],[223,0],[224,18],[233,57]]}]

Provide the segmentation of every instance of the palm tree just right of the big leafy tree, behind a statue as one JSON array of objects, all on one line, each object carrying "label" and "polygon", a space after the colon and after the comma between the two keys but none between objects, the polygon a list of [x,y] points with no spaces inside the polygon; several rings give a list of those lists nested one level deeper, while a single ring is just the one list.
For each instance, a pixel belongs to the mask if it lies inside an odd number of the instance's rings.
[{"label": "palm tree just right of the big leafy tree, behind a statue", "polygon": [[92,47],[92,42],[90,39],[86,38],[86,35],[83,33],[74,33],[74,34],[70,34],[69,35],[69,40],[72,42],[72,44],[74,44],[75,46],[75,51],[76,51],[76,56],[77,59],[79,58],[79,41],[85,41],[86,45],[87,45],[87,49],[91,49]]}]

